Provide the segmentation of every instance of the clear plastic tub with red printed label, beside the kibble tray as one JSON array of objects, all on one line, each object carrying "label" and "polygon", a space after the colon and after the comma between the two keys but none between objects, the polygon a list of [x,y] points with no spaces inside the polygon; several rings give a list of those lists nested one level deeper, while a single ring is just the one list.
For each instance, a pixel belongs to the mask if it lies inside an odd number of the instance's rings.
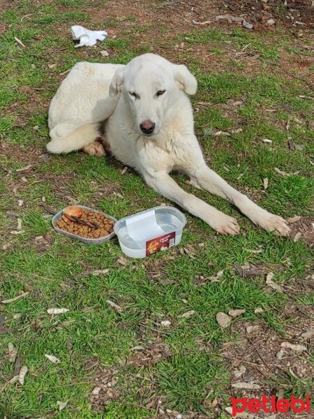
[{"label": "clear plastic tub with red printed label, beside the kibble tray", "polygon": [[144,258],[179,244],[186,217],[174,207],[155,207],[114,224],[121,250],[130,258]]}]

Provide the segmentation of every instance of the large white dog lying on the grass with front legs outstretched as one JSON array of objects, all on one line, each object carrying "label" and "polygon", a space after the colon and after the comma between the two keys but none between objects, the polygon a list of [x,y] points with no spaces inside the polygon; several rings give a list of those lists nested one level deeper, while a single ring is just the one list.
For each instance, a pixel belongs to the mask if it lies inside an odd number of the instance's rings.
[{"label": "large white dog lying on the grass with front legs outstretched", "polygon": [[263,210],[207,166],[186,96],[196,89],[197,82],[186,66],[155,54],[136,57],[126,66],[78,63],[52,99],[52,140],[47,149],[52,153],[84,149],[98,154],[100,145],[95,140],[105,121],[107,142],[117,159],[218,233],[239,233],[237,220],[181,189],[169,175],[172,170],[186,173],[193,186],[236,205],[258,226],[287,236],[290,228],[285,220]]}]

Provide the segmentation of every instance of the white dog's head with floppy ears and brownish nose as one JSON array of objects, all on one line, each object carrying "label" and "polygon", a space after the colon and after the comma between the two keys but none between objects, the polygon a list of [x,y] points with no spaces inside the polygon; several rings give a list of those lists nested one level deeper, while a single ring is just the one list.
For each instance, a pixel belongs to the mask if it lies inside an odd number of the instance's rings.
[{"label": "white dog's head with floppy ears and brownish nose", "polygon": [[182,91],[195,94],[197,81],[184,65],[170,63],[156,54],[144,54],[118,68],[110,96],[122,92],[141,135],[156,135],[176,106]]}]

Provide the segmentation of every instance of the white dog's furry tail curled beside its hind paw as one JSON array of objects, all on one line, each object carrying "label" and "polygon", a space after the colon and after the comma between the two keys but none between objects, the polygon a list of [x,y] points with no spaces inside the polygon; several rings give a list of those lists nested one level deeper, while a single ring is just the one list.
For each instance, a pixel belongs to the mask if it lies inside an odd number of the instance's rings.
[{"label": "white dog's furry tail curled beside its hind paw", "polygon": [[86,124],[75,131],[62,135],[63,128],[56,126],[50,131],[52,140],[48,142],[46,148],[48,152],[54,154],[70,153],[82,149],[100,135],[99,128],[99,124]]}]

